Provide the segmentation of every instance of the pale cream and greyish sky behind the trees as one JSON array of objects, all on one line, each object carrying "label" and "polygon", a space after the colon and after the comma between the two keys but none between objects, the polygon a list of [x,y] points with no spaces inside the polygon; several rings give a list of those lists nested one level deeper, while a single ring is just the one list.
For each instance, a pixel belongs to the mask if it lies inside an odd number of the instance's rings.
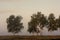
[{"label": "pale cream and greyish sky behind the trees", "polygon": [[[10,15],[21,15],[23,17],[24,29],[19,35],[30,35],[27,32],[28,22],[32,14],[42,12],[48,16],[54,13],[57,18],[60,15],[60,0],[0,0],[0,35],[11,35],[7,32],[6,19]],[[46,28],[43,35],[60,35],[60,30],[48,32]]]}]

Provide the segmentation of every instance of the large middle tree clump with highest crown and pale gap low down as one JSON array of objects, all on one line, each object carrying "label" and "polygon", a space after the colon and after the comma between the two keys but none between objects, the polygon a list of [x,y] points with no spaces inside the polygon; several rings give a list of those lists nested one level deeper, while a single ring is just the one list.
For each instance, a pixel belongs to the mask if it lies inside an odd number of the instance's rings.
[{"label": "large middle tree clump with highest crown and pale gap low down", "polygon": [[[44,26],[47,25],[47,19],[44,16],[44,14],[41,14],[41,12],[37,12],[37,14],[33,14],[31,16],[31,21],[28,23],[28,32],[35,32],[40,33]],[[38,28],[39,27],[39,28]],[[41,30],[39,30],[41,29]]]}]

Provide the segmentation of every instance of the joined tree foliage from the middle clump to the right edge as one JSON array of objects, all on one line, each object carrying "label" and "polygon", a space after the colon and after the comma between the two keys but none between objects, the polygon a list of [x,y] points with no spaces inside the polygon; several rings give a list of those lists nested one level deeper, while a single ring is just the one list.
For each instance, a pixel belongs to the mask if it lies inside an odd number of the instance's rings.
[{"label": "joined tree foliage from the middle clump to the right edge", "polygon": [[39,30],[37,26],[40,29],[47,27],[48,31],[55,31],[60,28],[60,16],[56,19],[53,13],[49,14],[49,16],[47,17],[41,12],[37,12],[37,14],[33,14],[31,16],[31,20],[28,23],[28,32],[37,33],[38,30],[39,33],[41,30]]}]

